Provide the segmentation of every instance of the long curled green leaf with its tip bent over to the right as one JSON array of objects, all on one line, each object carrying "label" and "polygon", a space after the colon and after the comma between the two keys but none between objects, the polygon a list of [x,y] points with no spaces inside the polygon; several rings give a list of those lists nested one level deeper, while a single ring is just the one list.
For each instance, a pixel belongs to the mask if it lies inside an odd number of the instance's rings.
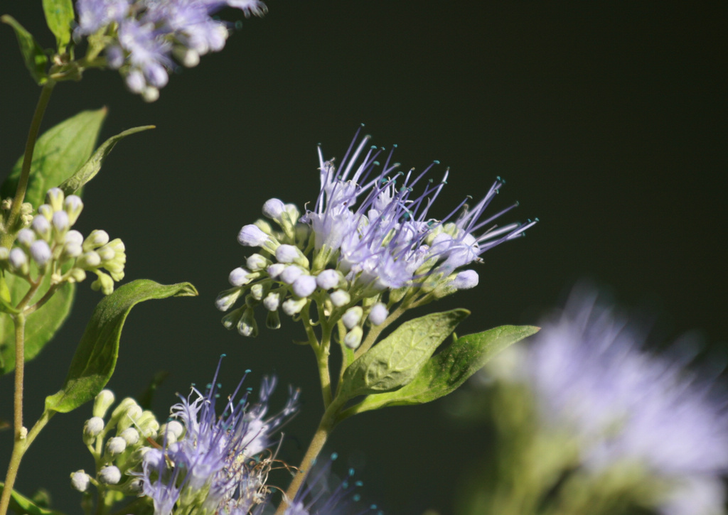
[{"label": "long curled green leaf with its tip bent over to the right", "polygon": [[116,367],[124,321],[137,303],[193,295],[197,295],[197,290],[189,282],[167,286],[149,279],[138,279],[103,298],[76,348],[63,388],[57,394],[46,397],[46,411],[66,413],[75,410],[106,386]]}]

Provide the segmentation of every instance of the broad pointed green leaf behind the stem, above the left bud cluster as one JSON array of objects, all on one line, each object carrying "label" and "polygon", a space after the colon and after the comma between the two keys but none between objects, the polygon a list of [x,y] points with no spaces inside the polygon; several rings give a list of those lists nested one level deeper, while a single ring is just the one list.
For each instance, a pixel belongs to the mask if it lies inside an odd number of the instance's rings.
[{"label": "broad pointed green leaf behind the stem, above the left bud cluster", "polygon": [[[93,152],[106,111],[106,108],[82,111],[51,127],[38,138],[33,152],[28,190],[25,193],[26,202],[34,207],[43,204],[46,191],[60,185],[82,167]],[[3,199],[15,196],[22,166],[21,156],[9,177],[0,186],[0,196]]]}]

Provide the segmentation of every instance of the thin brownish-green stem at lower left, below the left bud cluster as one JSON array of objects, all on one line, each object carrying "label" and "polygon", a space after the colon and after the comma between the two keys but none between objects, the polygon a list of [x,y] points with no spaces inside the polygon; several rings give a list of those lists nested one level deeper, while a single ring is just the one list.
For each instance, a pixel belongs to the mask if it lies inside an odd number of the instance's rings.
[{"label": "thin brownish-green stem at lower left, below the left bud cluster", "polygon": [[7,507],[10,503],[10,494],[15,484],[17,476],[17,468],[20,467],[20,460],[23,458],[25,449],[28,445],[26,442],[27,430],[23,427],[23,374],[25,372],[25,314],[19,313],[12,317],[15,322],[15,394],[14,394],[14,412],[13,412],[13,433],[15,440],[12,446],[12,455],[10,463],[7,466],[7,474],[5,475],[5,486],[0,498],[0,515],[7,514]]}]

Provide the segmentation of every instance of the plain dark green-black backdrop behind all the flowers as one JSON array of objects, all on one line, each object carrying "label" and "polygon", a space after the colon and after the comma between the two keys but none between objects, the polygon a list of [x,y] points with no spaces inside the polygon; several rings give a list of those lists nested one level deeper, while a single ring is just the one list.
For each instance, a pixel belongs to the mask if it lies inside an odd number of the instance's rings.
[{"label": "plain dark green-black backdrop behind all the flowers", "polygon": [[[39,4],[5,1],[0,10],[50,47]],[[128,93],[113,71],[53,93],[46,128],[102,105],[103,138],[157,125],[117,146],[87,188],[78,226],[124,240],[127,278],[190,281],[200,292],[135,308],[109,383],[119,397],[169,370],[155,401],[164,416],[175,392],[205,383],[224,352],[229,388],[246,368],[249,386],[270,372],[301,386],[304,404],[280,454],[298,463],[321,409],[312,354],[289,343],[298,327],[288,321],[244,340],[223,330],[213,300],[249,252],[235,239],[240,227],[272,196],[313,201],[316,143],[341,157],[361,122],[373,143],[399,145],[403,166],[439,159],[435,176],[451,167],[432,215],[481,196],[501,175],[499,206],[517,199],[510,218],[542,220],[483,255],[477,289],[440,303],[472,309],[459,332],[536,323],[590,277],[649,314],[658,343],[696,330],[708,362],[723,366],[728,4],[275,0],[269,8],[263,20],[244,20],[223,52],[174,75],[157,103]],[[0,169],[9,170],[38,89],[7,27],[0,70]],[[29,364],[28,423],[62,383],[98,299],[83,284],[69,322]],[[11,392],[11,378],[1,378],[6,420]],[[272,404],[283,402],[279,392]],[[327,452],[339,452],[339,471],[353,464],[389,514],[452,513],[458,476],[488,441],[447,410],[441,399],[361,415],[337,429]],[[68,474],[92,468],[81,442],[89,415],[90,406],[52,420],[21,467],[21,491],[45,485],[58,508],[79,511]],[[10,442],[3,431],[3,469]]]}]

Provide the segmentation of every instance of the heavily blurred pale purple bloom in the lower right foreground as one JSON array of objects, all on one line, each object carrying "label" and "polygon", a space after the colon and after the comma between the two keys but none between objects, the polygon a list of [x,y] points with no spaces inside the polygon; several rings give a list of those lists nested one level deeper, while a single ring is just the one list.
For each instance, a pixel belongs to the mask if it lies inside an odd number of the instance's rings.
[{"label": "heavily blurred pale purple bloom in the lower right foreground", "polygon": [[714,388],[641,351],[596,295],[575,296],[545,324],[521,372],[546,426],[579,442],[586,470],[640,463],[670,484],[663,514],[723,513],[728,414]]}]

